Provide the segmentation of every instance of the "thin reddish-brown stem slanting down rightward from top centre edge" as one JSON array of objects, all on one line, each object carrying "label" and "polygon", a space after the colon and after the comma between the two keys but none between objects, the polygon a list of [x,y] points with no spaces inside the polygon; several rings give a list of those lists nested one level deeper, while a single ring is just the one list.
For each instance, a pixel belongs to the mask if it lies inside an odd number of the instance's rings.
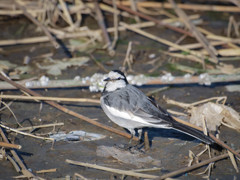
[{"label": "thin reddish-brown stem slanting down rightward from top centre edge", "polygon": [[[103,2],[106,3],[106,4],[110,4],[110,5],[112,4],[112,2],[109,1],[109,0],[103,0]],[[188,36],[192,36],[192,34],[191,34],[190,32],[188,32],[188,31],[185,31],[185,30],[183,30],[183,29],[180,29],[180,28],[171,26],[171,25],[169,25],[169,24],[164,24],[164,23],[162,23],[161,21],[159,21],[159,20],[157,20],[157,19],[155,19],[155,18],[153,18],[153,17],[151,17],[151,16],[147,16],[147,15],[142,14],[142,13],[140,13],[140,12],[133,11],[133,10],[129,9],[128,7],[126,7],[126,6],[122,6],[122,5],[118,4],[117,7],[118,7],[119,9],[122,9],[122,10],[124,10],[124,11],[127,11],[127,12],[129,12],[129,13],[131,13],[131,14],[137,15],[137,16],[145,19],[145,20],[152,21],[152,22],[154,22],[154,23],[156,23],[156,24],[158,24],[158,25],[160,25],[160,26],[165,26],[165,27],[167,27],[167,28],[169,28],[169,29],[171,29],[171,30],[177,31],[177,32],[179,32],[179,33],[187,34]]]}]

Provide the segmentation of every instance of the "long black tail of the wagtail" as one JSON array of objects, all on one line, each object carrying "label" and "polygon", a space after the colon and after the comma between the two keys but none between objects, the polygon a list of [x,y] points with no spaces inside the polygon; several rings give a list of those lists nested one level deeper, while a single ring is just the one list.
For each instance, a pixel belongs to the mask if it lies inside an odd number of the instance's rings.
[{"label": "long black tail of the wagtail", "polygon": [[195,137],[196,139],[199,139],[200,141],[202,141],[206,144],[210,145],[210,144],[215,143],[215,141],[212,138],[210,138],[209,136],[206,136],[202,131],[199,131],[190,126],[186,126],[186,125],[180,124],[180,123],[174,123],[173,129],[183,132],[185,134],[188,134],[192,137]]}]

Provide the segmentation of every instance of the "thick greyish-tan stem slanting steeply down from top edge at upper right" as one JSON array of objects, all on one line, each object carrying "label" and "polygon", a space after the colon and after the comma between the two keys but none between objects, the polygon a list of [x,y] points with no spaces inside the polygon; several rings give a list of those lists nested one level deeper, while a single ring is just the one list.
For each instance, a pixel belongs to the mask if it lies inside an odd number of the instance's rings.
[{"label": "thick greyish-tan stem slanting steeply down from top edge at upper right", "polygon": [[[178,16],[183,20],[186,27],[194,34],[196,39],[202,44],[202,46],[205,48],[205,50],[209,53],[209,55],[212,57],[214,63],[218,63],[218,59],[216,55],[218,54],[217,50],[208,43],[207,39],[198,31],[198,29],[195,27],[193,23],[189,20],[186,13],[180,9],[174,0],[169,0],[169,2],[172,4],[175,12],[178,14]],[[211,60],[211,59],[210,59]]]}]

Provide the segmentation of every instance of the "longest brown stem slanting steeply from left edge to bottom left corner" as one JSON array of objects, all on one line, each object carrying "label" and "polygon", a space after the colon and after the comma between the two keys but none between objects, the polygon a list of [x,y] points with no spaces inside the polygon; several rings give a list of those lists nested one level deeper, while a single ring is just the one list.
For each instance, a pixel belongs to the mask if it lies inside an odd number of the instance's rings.
[{"label": "longest brown stem slanting steeply from left edge to bottom left corner", "polygon": [[[0,134],[3,138],[3,141],[6,143],[10,143],[6,137],[6,135],[4,134],[2,128],[0,127]],[[16,153],[15,150],[11,149],[10,152],[12,153],[15,161],[18,163],[18,165],[21,167],[21,172],[23,173],[24,176],[26,176],[27,178],[31,179],[33,177],[35,177],[24,165],[24,163],[22,162],[22,160],[19,158],[18,154]]]}]

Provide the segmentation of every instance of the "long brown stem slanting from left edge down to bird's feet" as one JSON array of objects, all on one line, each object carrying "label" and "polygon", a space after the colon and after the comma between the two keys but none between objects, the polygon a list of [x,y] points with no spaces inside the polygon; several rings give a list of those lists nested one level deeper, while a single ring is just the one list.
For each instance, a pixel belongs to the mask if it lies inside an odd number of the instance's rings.
[{"label": "long brown stem slanting from left edge down to bird's feet", "polygon": [[[26,88],[26,87],[24,87],[24,86],[22,86],[22,85],[20,85],[20,84],[15,83],[14,81],[6,78],[6,77],[3,76],[2,74],[0,74],[0,79],[6,81],[6,82],[8,82],[8,83],[10,83],[11,85],[15,86],[16,88],[18,88],[18,89],[20,89],[20,90],[23,90],[23,91],[27,92],[28,94],[31,94],[32,96],[38,96],[38,97],[41,96],[40,94],[38,94],[38,93],[36,93],[36,92],[34,92],[34,91],[32,91],[32,90],[30,90],[30,89],[28,89],[28,88]],[[72,116],[74,116],[74,117],[77,117],[77,118],[79,118],[79,119],[82,119],[82,120],[84,120],[84,121],[86,121],[86,122],[88,122],[88,123],[90,123],[90,124],[93,124],[93,125],[95,125],[95,126],[98,126],[98,127],[100,127],[100,128],[103,128],[103,129],[105,129],[105,130],[107,130],[107,131],[110,131],[110,132],[113,132],[113,133],[115,133],[115,134],[124,136],[124,137],[126,137],[126,138],[129,138],[129,139],[132,138],[132,136],[131,136],[129,133],[120,131],[120,130],[118,130],[118,129],[116,129],[116,128],[113,128],[113,127],[110,127],[110,126],[107,126],[107,125],[104,125],[104,124],[102,124],[102,123],[100,123],[100,122],[97,122],[97,121],[95,121],[95,120],[93,120],[93,119],[90,119],[90,118],[88,118],[88,117],[86,117],[86,116],[83,116],[83,115],[81,115],[81,114],[79,114],[79,113],[76,113],[76,112],[74,112],[74,111],[71,111],[71,110],[69,110],[69,109],[67,109],[67,108],[59,105],[58,103],[55,103],[55,102],[53,102],[53,101],[45,101],[45,102],[46,102],[47,104],[49,104],[49,105],[51,105],[51,106],[59,109],[60,111],[63,111],[63,112],[65,112],[65,113],[70,114],[70,115],[72,115]],[[137,138],[136,136],[134,136],[132,139],[135,140],[135,141],[138,141],[138,138]]]}]

